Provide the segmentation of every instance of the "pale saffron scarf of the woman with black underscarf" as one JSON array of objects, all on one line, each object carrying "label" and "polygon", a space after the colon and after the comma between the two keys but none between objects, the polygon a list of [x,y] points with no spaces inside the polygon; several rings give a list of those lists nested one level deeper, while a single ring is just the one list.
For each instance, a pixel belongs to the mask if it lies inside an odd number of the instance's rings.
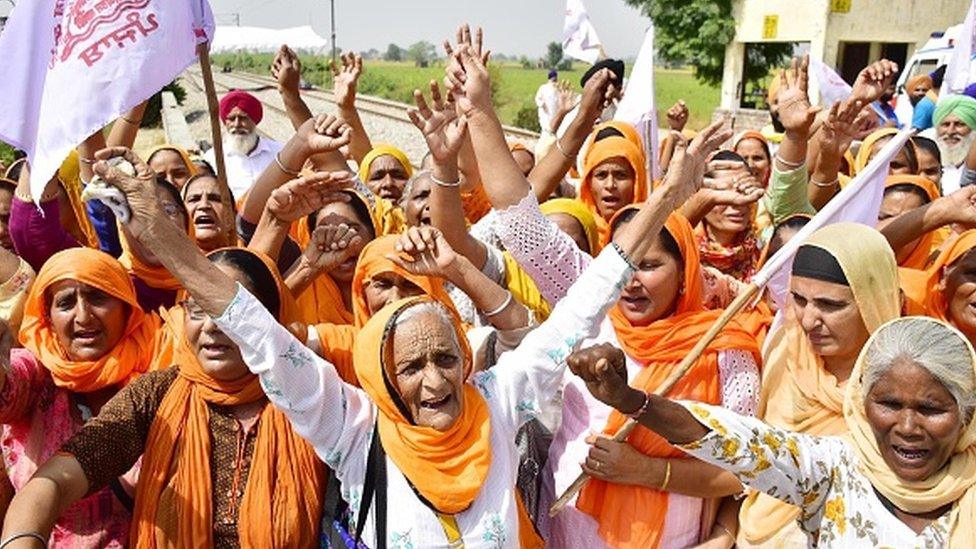
[{"label": "pale saffron scarf of the woman with black underscarf", "polygon": [[[895,255],[881,233],[857,223],[835,223],[813,233],[804,245],[826,250],[840,264],[868,332],[899,316]],[[810,347],[792,306],[782,314],[783,326],[768,336],[757,417],[798,433],[844,433],[844,388]],[[797,507],[751,492],[742,504],[739,525],[746,539],[762,543],[799,513]]]}]

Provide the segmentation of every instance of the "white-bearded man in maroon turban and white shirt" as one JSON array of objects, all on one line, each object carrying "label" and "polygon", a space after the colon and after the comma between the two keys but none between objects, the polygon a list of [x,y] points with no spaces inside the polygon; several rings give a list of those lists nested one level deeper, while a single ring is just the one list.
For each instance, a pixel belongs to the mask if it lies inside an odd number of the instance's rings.
[{"label": "white-bearded man in maroon turban and white shirt", "polygon": [[[258,135],[257,126],[264,116],[261,101],[253,95],[235,90],[220,100],[220,120],[224,124],[224,164],[227,184],[235,199],[244,196],[264,168],[275,162],[282,144]],[[216,166],[216,151],[204,154],[211,166]],[[288,169],[298,170],[301,166]]]}]

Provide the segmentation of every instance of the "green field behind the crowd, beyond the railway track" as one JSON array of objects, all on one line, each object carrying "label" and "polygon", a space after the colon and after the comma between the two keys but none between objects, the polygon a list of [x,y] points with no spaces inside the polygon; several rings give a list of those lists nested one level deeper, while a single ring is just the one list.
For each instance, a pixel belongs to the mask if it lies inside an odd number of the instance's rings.
[{"label": "green field behind the crowd, beyond the railway track", "polygon": [[[270,54],[221,54],[213,57],[217,66],[231,66],[238,70],[247,70],[260,74],[267,74],[267,67],[271,65]],[[302,57],[304,79],[316,86],[329,87],[329,74],[323,58]],[[629,69],[629,67],[628,67]],[[577,63],[572,71],[560,72],[560,79],[564,79],[579,88],[580,76],[585,72],[585,66]],[[535,92],[539,85],[545,82],[545,69],[525,69],[514,62],[493,63],[491,65],[493,79],[494,101],[502,121],[506,124],[517,124],[519,111],[526,111],[525,116],[535,109]],[[416,67],[412,63],[394,63],[389,61],[367,61],[366,69],[360,78],[359,91],[367,95],[376,95],[395,101],[412,102],[414,89],[427,89],[431,80],[441,81],[444,77],[443,62],[430,67]],[[657,83],[657,103],[661,113],[661,124],[665,124],[664,112],[678,99],[684,99],[691,110],[689,128],[700,129],[708,124],[712,111],[719,103],[719,89],[705,86],[696,81],[690,70],[659,69],[655,71]]]}]

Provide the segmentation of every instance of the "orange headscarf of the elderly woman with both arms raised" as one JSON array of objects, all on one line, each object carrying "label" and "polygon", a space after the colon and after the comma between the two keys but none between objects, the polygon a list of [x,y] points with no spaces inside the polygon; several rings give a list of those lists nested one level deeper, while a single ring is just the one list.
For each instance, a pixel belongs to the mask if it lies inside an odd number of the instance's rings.
[{"label": "orange headscarf of the elderly woman with both arms raised", "polygon": [[[366,323],[356,338],[356,374],[363,390],[379,411],[376,428],[386,455],[434,509],[454,515],[467,509],[481,492],[491,466],[491,421],[488,404],[472,385],[465,384],[461,414],[444,431],[414,425],[404,417],[391,394],[387,341],[397,317],[411,306],[431,301],[414,297],[391,303]],[[460,319],[452,316],[455,338],[461,346],[464,376],[471,372],[471,349]]]}]

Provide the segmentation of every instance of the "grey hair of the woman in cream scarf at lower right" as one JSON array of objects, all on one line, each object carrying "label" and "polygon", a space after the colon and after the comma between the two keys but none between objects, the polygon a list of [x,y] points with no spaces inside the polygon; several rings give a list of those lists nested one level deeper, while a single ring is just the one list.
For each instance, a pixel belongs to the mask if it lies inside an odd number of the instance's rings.
[{"label": "grey hair of the woman in cream scarf at lower right", "polygon": [[966,421],[976,408],[976,375],[969,342],[957,330],[933,319],[902,318],[871,337],[865,349],[863,396],[899,360],[924,368],[956,400]]}]

